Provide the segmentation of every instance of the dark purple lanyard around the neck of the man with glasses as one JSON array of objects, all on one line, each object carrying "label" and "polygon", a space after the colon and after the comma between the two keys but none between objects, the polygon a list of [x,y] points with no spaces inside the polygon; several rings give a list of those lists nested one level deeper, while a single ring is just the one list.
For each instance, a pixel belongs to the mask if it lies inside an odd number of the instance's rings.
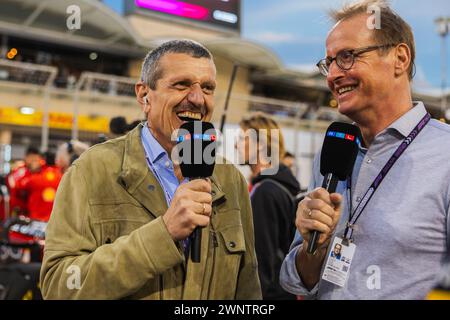
[{"label": "dark purple lanyard around the neck of the man with glasses", "polygon": [[[366,208],[369,201],[372,199],[373,195],[375,194],[375,191],[380,186],[381,182],[384,180],[384,178],[387,176],[389,171],[392,169],[394,164],[397,162],[397,160],[403,155],[403,153],[408,149],[408,147],[411,145],[411,143],[417,138],[419,133],[422,131],[422,129],[430,122],[431,115],[427,113],[422,120],[419,121],[419,123],[414,127],[414,129],[411,131],[411,133],[408,135],[408,137],[403,140],[402,144],[397,148],[397,150],[394,152],[394,154],[389,158],[387,163],[384,165],[383,169],[381,169],[380,173],[378,173],[375,180],[370,185],[369,189],[364,194],[364,197],[361,199],[361,201],[358,203],[358,206],[355,208],[355,211],[352,211],[352,199],[351,199],[351,177],[347,180],[347,189],[350,189],[350,217],[347,222],[347,226],[345,228],[344,233],[344,239],[346,240],[352,240],[353,238],[353,231],[356,225],[356,222],[361,217],[364,209]],[[350,237],[348,237],[348,234],[350,232]]]}]

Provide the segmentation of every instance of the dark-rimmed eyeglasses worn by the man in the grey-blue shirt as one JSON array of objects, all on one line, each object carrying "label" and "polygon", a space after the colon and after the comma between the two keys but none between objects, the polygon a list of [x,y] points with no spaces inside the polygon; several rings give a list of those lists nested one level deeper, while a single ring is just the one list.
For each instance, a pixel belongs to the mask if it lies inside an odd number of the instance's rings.
[{"label": "dark-rimmed eyeglasses worn by the man in the grey-blue shirt", "polygon": [[363,53],[395,46],[396,44],[385,44],[381,46],[370,46],[358,49],[342,50],[337,53],[336,57],[326,57],[325,59],[320,60],[316,65],[319,68],[320,73],[326,77],[330,72],[331,64],[335,60],[336,64],[341,70],[348,71],[355,64],[355,59]]}]

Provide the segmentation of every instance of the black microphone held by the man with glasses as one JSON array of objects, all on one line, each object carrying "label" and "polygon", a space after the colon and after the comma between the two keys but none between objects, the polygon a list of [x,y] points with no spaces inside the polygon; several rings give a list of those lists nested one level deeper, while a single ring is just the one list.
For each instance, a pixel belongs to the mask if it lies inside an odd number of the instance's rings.
[{"label": "black microphone held by the man with glasses", "polygon": [[[351,176],[358,146],[361,144],[361,131],[352,124],[334,122],[327,130],[320,157],[320,173],[324,176],[322,188],[334,193],[339,181]],[[317,250],[319,231],[312,231],[307,252]]]}]

